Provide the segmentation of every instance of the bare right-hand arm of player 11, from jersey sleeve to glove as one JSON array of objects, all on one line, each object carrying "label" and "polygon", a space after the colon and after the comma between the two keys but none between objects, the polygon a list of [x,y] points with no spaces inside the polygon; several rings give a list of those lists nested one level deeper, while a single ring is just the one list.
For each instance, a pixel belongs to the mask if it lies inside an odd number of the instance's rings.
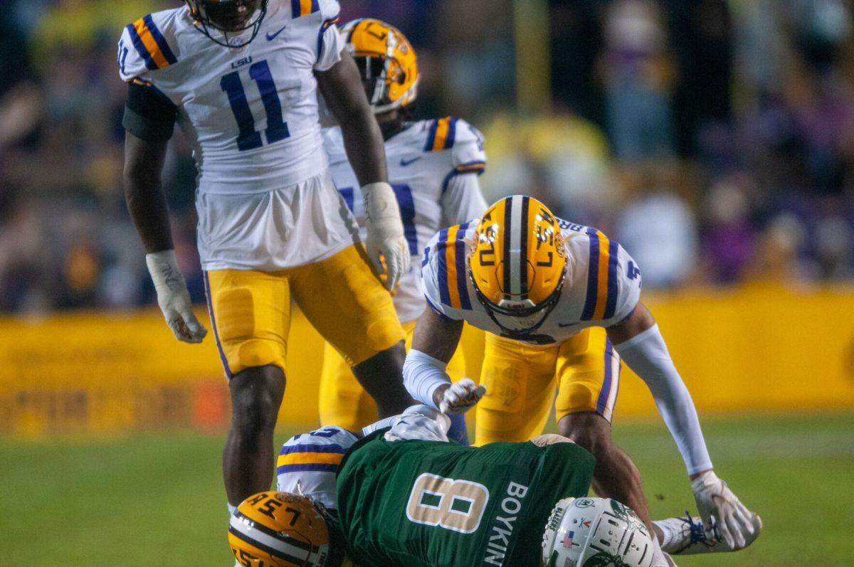
[{"label": "bare right-hand arm of player 11, from jersey sleeve to glove", "polygon": [[320,94],[341,126],[344,148],[359,184],[388,181],[383,133],[368,104],[359,69],[348,50],[328,70],[315,71]]}]

